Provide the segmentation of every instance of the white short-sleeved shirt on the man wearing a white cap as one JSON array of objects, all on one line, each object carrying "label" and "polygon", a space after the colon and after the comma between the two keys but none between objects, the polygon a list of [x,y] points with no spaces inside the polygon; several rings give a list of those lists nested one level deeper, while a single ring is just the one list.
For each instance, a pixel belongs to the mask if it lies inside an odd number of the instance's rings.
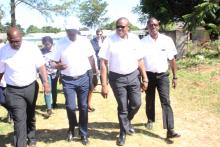
[{"label": "white short-sleeved shirt on the man wearing a white cap", "polygon": [[91,69],[88,57],[95,55],[95,52],[86,37],[77,35],[75,41],[65,37],[57,42],[56,49],[54,60],[67,65],[61,74],[75,77]]}]

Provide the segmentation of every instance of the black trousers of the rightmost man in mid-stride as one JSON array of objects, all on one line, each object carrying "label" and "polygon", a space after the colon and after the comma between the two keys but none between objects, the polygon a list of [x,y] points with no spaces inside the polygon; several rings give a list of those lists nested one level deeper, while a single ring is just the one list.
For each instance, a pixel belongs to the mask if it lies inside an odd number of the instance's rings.
[{"label": "black trousers of the rightmost man in mid-stride", "polygon": [[148,121],[155,121],[155,91],[157,89],[162,107],[163,128],[173,129],[174,118],[173,110],[170,105],[170,82],[168,78],[169,74],[168,72],[147,72],[147,76],[149,79],[148,89],[146,91],[146,115]]}]

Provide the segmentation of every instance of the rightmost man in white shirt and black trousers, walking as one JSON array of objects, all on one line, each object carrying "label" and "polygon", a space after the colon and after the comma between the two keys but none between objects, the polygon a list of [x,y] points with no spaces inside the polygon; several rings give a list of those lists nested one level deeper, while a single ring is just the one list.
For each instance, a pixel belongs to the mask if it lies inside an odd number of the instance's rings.
[{"label": "rightmost man in white shirt and black trousers, walking", "polygon": [[145,49],[144,64],[149,78],[146,90],[146,115],[148,122],[146,127],[152,129],[155,122],[155,90],[158,90],[163,111],[163,128],[167,129],[167,138],[180,137],[174,129],[173,110],[170,105],[170,85],[168,73],[168,60],[173,74],[172,86],[176,87],[176,47],[173,40],[159,33],[159,21],[150,18],[147,22],[149,35],[141,42]]}]

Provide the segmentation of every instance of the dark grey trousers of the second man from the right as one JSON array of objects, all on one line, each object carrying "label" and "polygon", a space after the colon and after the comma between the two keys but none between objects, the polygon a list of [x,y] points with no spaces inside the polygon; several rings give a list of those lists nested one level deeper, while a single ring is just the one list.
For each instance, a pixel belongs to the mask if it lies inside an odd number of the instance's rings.
[{"label": "dark grey trousers of the second man from the right", "polygon": [[139,71],[127,75],[109,72],[109,83],[118,103],[120,133],[128,132],[130,121],[141,106]]}]

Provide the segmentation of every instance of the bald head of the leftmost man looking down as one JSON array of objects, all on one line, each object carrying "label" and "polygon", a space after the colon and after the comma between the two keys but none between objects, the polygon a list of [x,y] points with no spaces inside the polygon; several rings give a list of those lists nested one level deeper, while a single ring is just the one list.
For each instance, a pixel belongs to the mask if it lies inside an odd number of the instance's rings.
[{"label": "bald head of the leftmost man looking down", "polygon": [[21,47],[22,36],[21,32],[16,27],[11,27],[7,31],[7,39],[13,49]]}]

